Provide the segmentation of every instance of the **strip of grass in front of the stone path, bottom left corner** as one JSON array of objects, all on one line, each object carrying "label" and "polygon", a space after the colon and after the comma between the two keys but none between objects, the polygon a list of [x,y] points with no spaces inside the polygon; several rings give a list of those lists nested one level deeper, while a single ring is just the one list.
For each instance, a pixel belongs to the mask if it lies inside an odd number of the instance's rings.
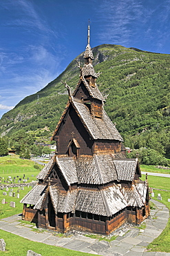
[{"label": "strip of grass in front of the stone path, bottom left corner", "polygon": [[7,253],[9,256],[27,255],[28,250],[33,250],[35,253],[39,253],[42,256],[94,256],[89,253],[81,253],[75,250],[69,250],[61,247],[50,246],[36,241],[30,241],[18,235],[11,234],[9,232],[0,230],[0,237],[6,242],[6,252],[0,251],[0,254]]}]

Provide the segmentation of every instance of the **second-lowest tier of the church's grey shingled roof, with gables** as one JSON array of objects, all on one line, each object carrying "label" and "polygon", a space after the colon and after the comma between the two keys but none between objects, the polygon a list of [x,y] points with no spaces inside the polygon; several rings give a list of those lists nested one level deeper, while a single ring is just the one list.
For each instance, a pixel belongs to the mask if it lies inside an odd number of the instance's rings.
[{"label": "second-lowest tier of the church's grey shingled roof, with gables", "polygon": [[[57,157],[41,170],[39,177],[47,177],[56,165],[67,185],[73,183],[105,184],[111,181],[133,181],[136,174],[136,159],[115,159],[114,154],[94,154],[94,156]],[[138,184],[138,190],[142,191]],[[145,196],[144,196],[145,197]]]}]

